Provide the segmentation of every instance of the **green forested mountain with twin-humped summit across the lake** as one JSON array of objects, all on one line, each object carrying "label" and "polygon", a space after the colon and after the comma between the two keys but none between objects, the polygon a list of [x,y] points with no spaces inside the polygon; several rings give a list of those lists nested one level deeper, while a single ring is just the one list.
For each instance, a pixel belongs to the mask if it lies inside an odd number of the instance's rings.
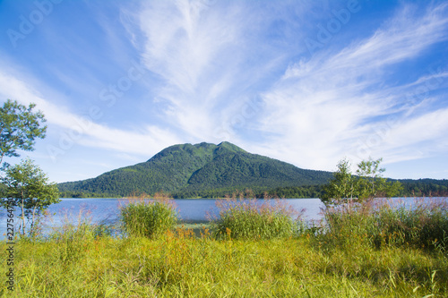
[{"label": "green forested mountain with twin-humped summit across the lake", "polygon": [[174,145],[146,162],[96,178],[59,183],[58,188],[66,196],[126,196],[163,191],[185,198],[223,196],[246,189],[264,192],[320,185],[331,178],[331,172],[301,169],[224,141],[219,145]]}]

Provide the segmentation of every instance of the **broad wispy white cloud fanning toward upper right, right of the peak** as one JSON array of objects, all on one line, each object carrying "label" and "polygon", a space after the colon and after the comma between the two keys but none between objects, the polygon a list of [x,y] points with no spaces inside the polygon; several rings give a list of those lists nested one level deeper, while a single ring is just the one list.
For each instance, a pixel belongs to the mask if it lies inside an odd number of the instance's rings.
[{"label": "broad wispy white cloud fanning toward upper right, right of the peak", "polygon": [[[439,140],[447,136],[446,111],[419,115],[421,111],[409,110],[409,98],[402,92],[412,84],[397,86],[387,79],[394,65],[416,59],[448,38],[446,11],[447,5],[442,4],[418,15],[405,6],[373,36],[290,66],[263,95],[267,106],[260,124],[262,130],[277,133],[267,142],[280,148],[279,153],[272,149],[271,153],[296,164],[298,160],[298,166],[328,169],[348,155],[357,161],[368,155],[387,162],[416,158],[411,145],[422,141],[430,146],[438,142],[437,148],[445,151]],[[435,77],[444,78],[444,72],[427,70],[413,84]],[[443,85],[446,81],[435,89]],[[426,95],[431,97],[437,100]],[[399,117],[393,123],[392,115]],[[395,149],[401,149],[401,154],[393,154]]]}]

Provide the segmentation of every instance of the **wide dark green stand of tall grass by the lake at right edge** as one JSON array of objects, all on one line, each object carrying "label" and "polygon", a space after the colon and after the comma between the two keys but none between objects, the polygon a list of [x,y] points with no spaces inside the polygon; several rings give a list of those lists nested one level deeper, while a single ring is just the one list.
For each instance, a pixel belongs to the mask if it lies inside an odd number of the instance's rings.
[{"label": "wide dark green stand of tall grass by the lake at right edge", "polygon": [[324,213],[328,243],[367,242],[379,249],[383,245],[413,246],[445,251],[448,234],[448,209],[445,200],[405,201],[369,200],[333,206]]}]

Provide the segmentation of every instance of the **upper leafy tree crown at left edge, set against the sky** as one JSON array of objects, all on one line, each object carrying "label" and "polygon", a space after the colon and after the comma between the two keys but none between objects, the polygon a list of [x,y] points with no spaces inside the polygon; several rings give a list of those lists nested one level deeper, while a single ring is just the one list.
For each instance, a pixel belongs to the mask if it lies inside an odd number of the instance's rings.
[{"label": "upper leafy tree crown at left edge, set against the sky", "polygon": [[0,107],[0,166],[4,157],[19,157],[17,149],[31,151],[36,138],[45,138],[47,125],[42,124],[46,119],[42,112],[33,111],[35,106],[26,107],[8,99]]}]

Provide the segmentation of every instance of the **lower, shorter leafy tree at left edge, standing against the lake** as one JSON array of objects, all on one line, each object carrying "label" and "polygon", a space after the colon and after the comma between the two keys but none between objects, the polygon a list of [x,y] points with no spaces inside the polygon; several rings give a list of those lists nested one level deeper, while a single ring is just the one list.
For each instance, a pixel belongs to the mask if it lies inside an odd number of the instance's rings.
[{"label": "lower, shorter leafy tree at left edge, standing against the lake", "polygon": [[21,233],[26,233],[25,227],[30,223],[30,234],[33,234],[41,212],[60,201],[56,183],[48,183],[47,175],[30,158],[22,160],[19,165],[7,167],[1,180],[5,186],[1,205],[5,208],[20,208]]}]

